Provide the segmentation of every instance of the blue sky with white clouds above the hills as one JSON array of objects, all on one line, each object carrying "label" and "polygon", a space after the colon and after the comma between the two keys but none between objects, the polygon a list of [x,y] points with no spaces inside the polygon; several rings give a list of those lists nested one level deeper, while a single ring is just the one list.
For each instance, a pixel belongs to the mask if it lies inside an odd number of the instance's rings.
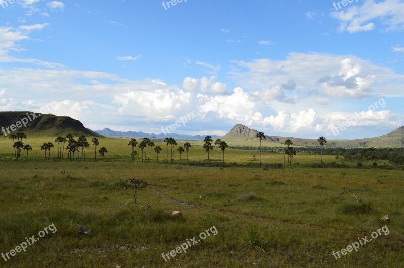
[{"label": "blue sky with white clouds above the hills", "polygon": [[0,111],[189,135],[404,126],[404,0],[0,2]]}]

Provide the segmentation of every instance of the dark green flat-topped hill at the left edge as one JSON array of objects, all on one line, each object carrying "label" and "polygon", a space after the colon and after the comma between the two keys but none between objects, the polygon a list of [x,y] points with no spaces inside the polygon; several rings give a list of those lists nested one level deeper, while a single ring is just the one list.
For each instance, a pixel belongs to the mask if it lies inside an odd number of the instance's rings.
[{"label": "dark green flat-topped hill at the left edge", "polygon": [[[56,116],[53,114],[41,114],[39,116],[39,114],[36,114],[35,116],[38,117],[34,118],[31,114],[32,112],[0,112],[0,128],[4,127],[4,130],[2,130],[3,135],[5,133],[8,136],[12,133],[25,132],[31,136],[66,136],[70,133],[73,136],[87,135],[100,137],[99,134],[88,130],[80,121],[71,117]],[[17,124],[18,126],[20,123],[17,122],[21,122],[21,120],[28,121],[26,127],[21,125],[15,131],[11,131],[12,129],[9,128],[10,133],[6,130],[11,125]]]}]

